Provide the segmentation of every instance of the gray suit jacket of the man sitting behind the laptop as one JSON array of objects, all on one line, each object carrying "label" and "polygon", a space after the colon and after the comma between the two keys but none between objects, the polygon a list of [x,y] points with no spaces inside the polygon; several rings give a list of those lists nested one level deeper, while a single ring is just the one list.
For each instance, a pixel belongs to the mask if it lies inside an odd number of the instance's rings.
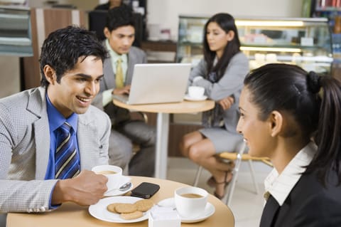
[{"label": "gray suit jacket of the man sitting behind the laptop", "polygon": [[[106,46],[105,43],[103,43],[104,47]],[[134,72],[134,65],[141,64],[141,63],[147,63],[147,56],[144,51],[142,51],[139,48],[136,48],[135,46],[131,46],[129,53],[128,53],[128,68],[126,71],[126,81],[124,82],[124,85],[130,85],[131,79],[133,78],[133,72]],[[101,80],[101,88],[99,90],[99,94],[97,97],[95,97],[94,102],[92,102],[93,105],[98,107],[99,109],[103,110],[102,105],[102,92],[104,90],[109,90],[112,88],[116,88],[115,84],[115,74],[114,70],[112,68],[112,61],[111,58],[107,58],[104,60],[104,77]]]}]

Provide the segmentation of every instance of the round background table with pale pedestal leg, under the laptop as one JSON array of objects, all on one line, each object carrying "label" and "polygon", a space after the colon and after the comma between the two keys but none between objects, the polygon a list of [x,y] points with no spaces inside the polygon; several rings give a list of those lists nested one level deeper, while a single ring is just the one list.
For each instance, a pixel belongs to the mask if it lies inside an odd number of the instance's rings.
[{"label": "round background table with pale pedestal leg, under the laptop", "polygon": [[196,102],[183,101],[148,105],[128,105],[125,104],[124,102],[114,100],[114,105],[123,107],[128,110],[158,113],[156,121],[155,176],[156,178],[166,179],[169,114],[203,112],[206,110],[211,110],[213,109],[213,107],[215,107],[215,102],[213,100],[204,100]]}]

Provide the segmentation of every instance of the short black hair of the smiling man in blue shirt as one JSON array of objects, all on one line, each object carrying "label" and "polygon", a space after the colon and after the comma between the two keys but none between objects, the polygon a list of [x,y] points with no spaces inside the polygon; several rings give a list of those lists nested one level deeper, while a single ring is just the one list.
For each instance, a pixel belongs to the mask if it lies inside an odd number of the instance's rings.
[{"label": "short black hair of the smiling man in blue shirt", "polygon": [[50,65],[55,70],[57,82],[65,72],[72,70],[79,58],[84,60],[87,56],[95,56],[104,61],[107,51],[102,46],[92,31],[77,26],[67,26],[53,31],[45,39],[40,53],[40,85],[48,87],[48,80],[44,75],[44,66]]}]

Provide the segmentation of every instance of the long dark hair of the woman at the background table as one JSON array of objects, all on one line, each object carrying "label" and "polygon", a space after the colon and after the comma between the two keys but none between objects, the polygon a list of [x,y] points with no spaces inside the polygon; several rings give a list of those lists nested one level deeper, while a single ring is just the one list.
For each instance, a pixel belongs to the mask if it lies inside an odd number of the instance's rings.
[{"label": "long dark hair of the woman at the background table", "polygon": [[[206,31],[207,31],[207,26],[209,23],[215,22],[224,30],[225,33],[228,33],[229,31],[234,31],[234,38],[227,43],[227,46],[224,48],[224,53],[222,54],[222,57],[219,59],[217,62],[217,65],[213,66],[213,62],[215,60],[216,53],[215,51],[210,50],[210,46],[208,46],[207,43],[207,36],[206,36]],[[216,72],[217,73],[217,78],[218,80],[222,78],[222,75],[224,75],[224,72],[227,68],[227,65],[229,65],[229,60],[239,52],[240,48],[240,41],[239,41],[239,36],[238,36],[238,30],[237,26],[234,23],[234,18],[230,14],[215,14],[212,16],[210,19],[205,24],[204,27],[204,58],[207,63],[207,75],[210,74],[211,72]]]}]

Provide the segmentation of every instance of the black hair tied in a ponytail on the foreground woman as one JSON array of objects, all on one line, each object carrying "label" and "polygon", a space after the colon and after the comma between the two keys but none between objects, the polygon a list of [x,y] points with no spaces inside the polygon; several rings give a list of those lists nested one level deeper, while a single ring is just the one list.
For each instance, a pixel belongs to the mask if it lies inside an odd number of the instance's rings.
[{"label": "black hair tied in a ponytail on the foreground woman", "polygon": [[[341,183],[341,83],[328,75],[307,73],[296,65],[268,64],[252,70],[244,80],[250,102],[265,120],[273,110],[286,111],[313,138],[318,152],[307,172],[316,170],[323,184],[330,167]],[[323,89],[320,89],[323,88]]]}]

